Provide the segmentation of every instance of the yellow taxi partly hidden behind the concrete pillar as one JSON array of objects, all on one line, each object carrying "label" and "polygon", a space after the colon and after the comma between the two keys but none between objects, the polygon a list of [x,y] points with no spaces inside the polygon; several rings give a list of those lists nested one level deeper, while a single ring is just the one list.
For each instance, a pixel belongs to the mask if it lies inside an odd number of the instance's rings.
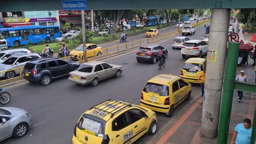
[{"label": "yellow taxi partly hidden behind the concrete pillar", "polygon": [[189,58],[182,67],[180,77],[186,82],[200,83],[198,77],[203,68],[206,68],[205,58]]}]

